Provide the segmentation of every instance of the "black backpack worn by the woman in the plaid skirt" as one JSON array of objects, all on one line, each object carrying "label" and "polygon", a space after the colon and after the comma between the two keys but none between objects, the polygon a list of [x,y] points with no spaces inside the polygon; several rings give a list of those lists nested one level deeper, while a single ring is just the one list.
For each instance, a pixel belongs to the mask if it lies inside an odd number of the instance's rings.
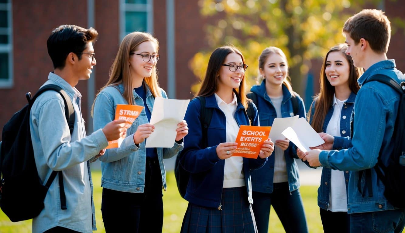
[{"label": "black backpack worn by the woman in the plaid skirt", "polygon": [[[200,100],[201,103],[201,129],[202,129],[202,138],[207,138],[207,130],[209,127],[209,124],[211,123],[211,118],[212,118],[212,109],[211,108],[205,108],[205,97],[202,96],[197,96],[196,97],[198,100]],[[254,108],[252,106],[252,102],[248,102],[248,108],[246,110],[246,114],[249,117],[249,121],[252,123],[256,112],[254,111]],[[207,148],[207,140],[203,140],[205,143],[203,148]],[[177,182],[177,189],[179,189],[179,193],[181,197],[184,198],[185,192],[187,190],[187,185],[188,185],[188,180],[190,179],[190,173],[187,172],[179,162],[179,157],[180,155],[177,155],[176,162],[175,162],[175,177],[176,177],[176,182]]]}]

